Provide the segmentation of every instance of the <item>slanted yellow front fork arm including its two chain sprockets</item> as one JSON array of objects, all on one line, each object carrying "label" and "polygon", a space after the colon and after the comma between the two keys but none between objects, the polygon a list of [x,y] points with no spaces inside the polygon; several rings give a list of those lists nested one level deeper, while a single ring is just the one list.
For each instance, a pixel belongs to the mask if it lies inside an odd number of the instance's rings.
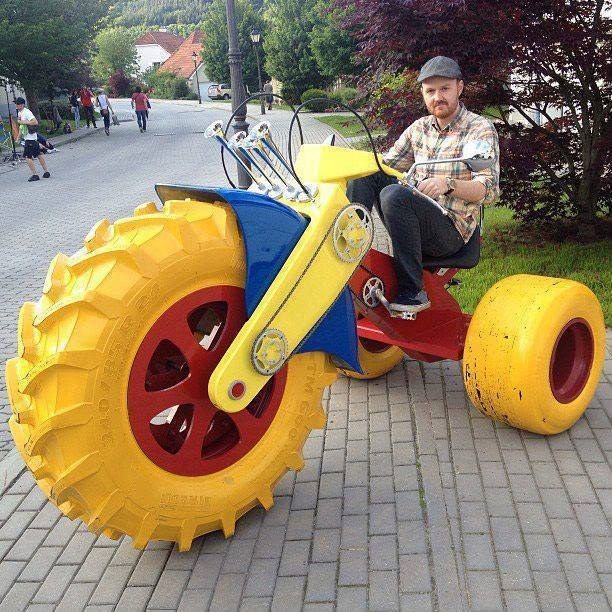
[{"label": "slanted yellow front fork arm including its two chain sprockets", "polygon": [[278,372],[334,305],[374,237],[368,211],[338,185],[321,186],[326,203],[244,324],[208,382],[220,410],[238,412]]}]

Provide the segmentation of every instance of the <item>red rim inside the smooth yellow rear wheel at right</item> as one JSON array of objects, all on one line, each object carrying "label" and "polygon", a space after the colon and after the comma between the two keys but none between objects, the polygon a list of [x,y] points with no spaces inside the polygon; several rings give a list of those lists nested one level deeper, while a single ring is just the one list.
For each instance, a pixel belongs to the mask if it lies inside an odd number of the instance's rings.
[{"label": "red rim inside the smooth yellow rear wheel at right", "polygon": [[561,330],[550,359],[550,388],[562,404],[575,400],[584,389],[593,365],[593,333],[584,319],[572,319]]}]

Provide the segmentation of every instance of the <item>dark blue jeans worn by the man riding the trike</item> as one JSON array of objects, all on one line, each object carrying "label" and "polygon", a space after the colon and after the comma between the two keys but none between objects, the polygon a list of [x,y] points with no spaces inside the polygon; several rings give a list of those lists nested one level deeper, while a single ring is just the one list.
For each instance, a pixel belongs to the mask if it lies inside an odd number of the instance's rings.
[{"label": "dark blue jeans worn by the man riding the trike", "polygon": [[399,293],[423,288],[423,255],[448,257],[464,244],[449,217],[382,172],[350,181],[347,196],[368,210],[376,207],[391,237]]}]

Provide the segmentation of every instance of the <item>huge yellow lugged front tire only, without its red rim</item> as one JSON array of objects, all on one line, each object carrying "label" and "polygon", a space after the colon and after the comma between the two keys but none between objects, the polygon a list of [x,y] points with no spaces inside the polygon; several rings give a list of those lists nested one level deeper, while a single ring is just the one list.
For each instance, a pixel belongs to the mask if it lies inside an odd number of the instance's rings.
[{"label": "huge yellow lugged front tire only, without its red rim", "polygon": [[85,248],[52,262],[38,303],[19,317],[19,356],[7,363],[10,428],[47,496],[90,530],[134,546],[178,543],[222,529],[303,467],[302,446],[322,427],[321,396],[336,377],[323,353],[293,357],[276,415],[247,454],[225,469],[184,476],[159,467],[130,427],[127,388],[139,346],[173,304],[206,287],[244,287],[244,249],[221,203],[148,203],[101,221]]}]

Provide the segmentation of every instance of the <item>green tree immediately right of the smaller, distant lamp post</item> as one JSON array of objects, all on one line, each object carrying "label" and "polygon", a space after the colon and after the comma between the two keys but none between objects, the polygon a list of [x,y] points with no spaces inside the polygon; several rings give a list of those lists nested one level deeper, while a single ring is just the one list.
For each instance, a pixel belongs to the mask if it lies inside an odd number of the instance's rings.
[{"label": "green tree immediately right of the smaller, distant lamp post", "polygon": [[317,20],[317,0],[273,0],[264,13],[266,70],[283,84],[283,95],[298,102],[307,89],[326,86],[331,79],[319,72],[310,47]]}]

